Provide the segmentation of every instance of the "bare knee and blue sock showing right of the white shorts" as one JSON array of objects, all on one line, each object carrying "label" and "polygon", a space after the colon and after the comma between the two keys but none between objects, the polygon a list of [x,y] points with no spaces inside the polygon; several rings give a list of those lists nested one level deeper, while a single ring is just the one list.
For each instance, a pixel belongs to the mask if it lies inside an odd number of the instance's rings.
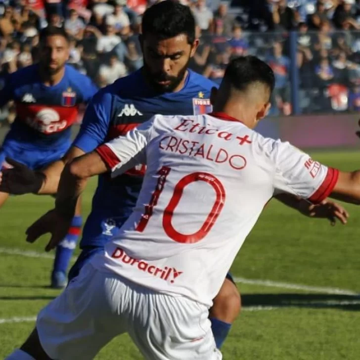
[{"label": "bare knee and blue sock showing right of the white shorts", "polygon": [[230,274],[226,275],[219,294],[210,309],[211,329],[218,349],[223,345],[231,325],[240,314],[241,297]]}]

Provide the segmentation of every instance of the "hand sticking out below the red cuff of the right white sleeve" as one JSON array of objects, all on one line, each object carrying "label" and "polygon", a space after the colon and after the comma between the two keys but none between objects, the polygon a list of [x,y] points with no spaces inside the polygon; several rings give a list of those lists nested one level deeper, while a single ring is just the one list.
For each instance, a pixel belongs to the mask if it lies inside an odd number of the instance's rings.
[{"label": "hand sticking out below the red cuff of the right white sleeve", "polygon": [[331,225],[335,225],[336,220],[345,225],[349,218],[349,213],[341,205],[329,200],[323,200],[319,204],[304,201],[299,210],[311,218],[328,219]]}]

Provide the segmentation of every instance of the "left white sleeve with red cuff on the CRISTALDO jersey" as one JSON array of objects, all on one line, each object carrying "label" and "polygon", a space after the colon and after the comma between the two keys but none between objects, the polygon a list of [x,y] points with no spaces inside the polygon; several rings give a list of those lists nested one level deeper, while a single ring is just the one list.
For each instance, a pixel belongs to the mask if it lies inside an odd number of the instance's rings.
[{"label": "left white sleeve with red cuff on the CRISTALDO jersey", "polygon": [[139,125],[135,129],[106,142],[95,149],[101,159],[120,175],[138,164],[146,164],[146,145],[155,117]]}]

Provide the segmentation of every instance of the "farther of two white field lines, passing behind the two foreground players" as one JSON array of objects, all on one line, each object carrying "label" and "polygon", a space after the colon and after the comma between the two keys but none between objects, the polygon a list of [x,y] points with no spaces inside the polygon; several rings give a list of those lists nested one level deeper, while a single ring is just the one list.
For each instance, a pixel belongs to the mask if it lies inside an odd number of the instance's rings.
[{"label": "farther of two white field lines, passing behind the two foreground players", "polygon": [[[45,258],[45,259],[53,259],[53,254],[40,253],[37,251],[28,251],[28,250],[20,250],[20,249],[12,249],[12,248],[1,248],[0,253],[9,254],[9,255],[19,255],[26,256],[30,258]],[[75,258],[73,257],[73,260]],[[273,280],[260,280],[260,279],[247,279],[244,277],[234,277],[234,281],[242,284],[249,285],[261,285],[268,287],[279,287],[283,289],[293,289],[293,290],[303,290],[303,291],[312,291],[323,294],[337,294],[337,295],[360,295],[355,291],[332,288],[332,287],[319,287],[319,286],[309,286],[309,285],[301,285],[301,284],[291,284],[288,282],[279,282]]]}]

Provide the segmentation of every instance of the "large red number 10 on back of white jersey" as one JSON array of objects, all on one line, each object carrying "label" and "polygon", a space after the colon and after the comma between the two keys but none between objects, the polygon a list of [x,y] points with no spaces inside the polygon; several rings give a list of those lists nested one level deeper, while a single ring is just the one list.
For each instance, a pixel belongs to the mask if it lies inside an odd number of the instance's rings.
[{"label": "large red number 10 on back of white jersey", "polygon": [[[150,203],[145,206],[145,211],[141,215],[141,219],[137,224],[135,230],[143,232],[146,225],[148,224],[154,206],[157,205],[158,199],[160,197],[161,192],[164,189],[166,178],[168,177],[171,168],[167,166],[163,166],[158,172],[159,179],[156,184],[156,189],[152,193]],[[210,184],[216,193],[216,199],[213,204],[210,213],[208,214],[207,218],[205,219],[204,223],[200,227],[200,229],[192,234],[182,234],[181,232],[177,231],[174,226],[172,225],[172,218],[174,215],[174,211],[180,202],[180,198],[182,196],[183,189],[186,185],[194,182],[194,181],[205,181],[206,183]],[[163,228],[166,234],[173,239],[174,241],[193,244],[195,242],[200,241],[203,239],[206,234],[211,230],[213,225],[215,224],[216,220],[218,219],[225,203],[225,188],[223,184],[220,182],[218,178],[214,175],[202,172],[191,173],[184,176],[174,188],[173,196],[171,197],[169,204],[164,210],[163,215]]]}]

